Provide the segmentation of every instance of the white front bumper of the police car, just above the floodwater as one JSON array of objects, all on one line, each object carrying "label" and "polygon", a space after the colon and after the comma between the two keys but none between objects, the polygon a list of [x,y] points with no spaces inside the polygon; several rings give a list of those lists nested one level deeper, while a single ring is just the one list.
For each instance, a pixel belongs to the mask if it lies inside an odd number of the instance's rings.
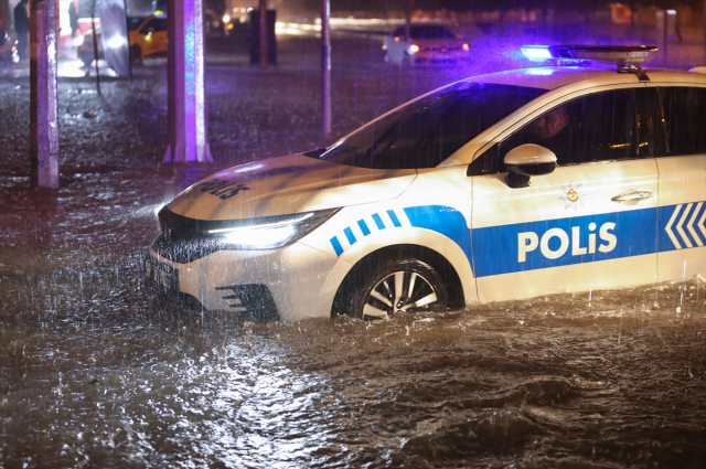
[{"label": "white front bumper of the police car, just above the floodwater", "polygon": [[220,249],[179,263],[160,246],[161,235],[146,256],[145,278],[170,298],[257,319],[331,315],[340,281],[327,281],[338,263],[330,254],[295,243],[276,251]]}]

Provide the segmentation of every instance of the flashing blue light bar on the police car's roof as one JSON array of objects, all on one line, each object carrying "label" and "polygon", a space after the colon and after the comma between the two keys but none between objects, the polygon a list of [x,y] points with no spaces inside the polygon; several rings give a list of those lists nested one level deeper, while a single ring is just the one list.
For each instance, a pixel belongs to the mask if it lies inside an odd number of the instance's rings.
[{"label": "flashing blue light bar on the police car's roof", "polygon": [[523,45],[522,53],[533,62],[549,58],[597,61],[611,65],[638,65],[650,62],[657,53],[653,45]]}]

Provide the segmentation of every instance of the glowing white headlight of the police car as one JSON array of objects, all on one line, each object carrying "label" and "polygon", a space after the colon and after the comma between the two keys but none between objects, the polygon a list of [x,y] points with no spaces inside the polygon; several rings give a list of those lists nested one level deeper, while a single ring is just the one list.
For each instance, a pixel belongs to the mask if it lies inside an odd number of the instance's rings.
[{"label": "glowing white headlight of the police car", "polygon": [[222,222],[232,226],[213,227],[206,233],[225,249],[278,249],[301,239],[333,216],[339,209],[292,215]]}]

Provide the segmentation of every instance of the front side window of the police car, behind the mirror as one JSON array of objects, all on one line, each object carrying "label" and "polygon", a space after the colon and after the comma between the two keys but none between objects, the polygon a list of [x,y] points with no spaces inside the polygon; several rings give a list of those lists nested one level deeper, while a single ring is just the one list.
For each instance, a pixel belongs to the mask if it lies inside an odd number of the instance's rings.
[{"label": "front side window of the police car, behind the mirror", "polygon": [[643,98],[645,89],[593,93],[555,106],[477,158],[469,175],[505,172],[505,154],[524,143],[552,150],[560,167],[651,156],[648,106],[637,94]]}]

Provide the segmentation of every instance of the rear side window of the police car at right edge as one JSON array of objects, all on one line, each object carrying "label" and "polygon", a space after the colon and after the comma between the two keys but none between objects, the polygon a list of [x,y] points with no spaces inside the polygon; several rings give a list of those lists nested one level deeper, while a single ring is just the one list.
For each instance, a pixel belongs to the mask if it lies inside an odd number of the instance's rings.
[{"label": "rear side window of the police car at right edge", "polygon": [[673,86],[652,90],[656,94],[655,120],[660,122],[657,156],[706,153],[706,88]]}]

